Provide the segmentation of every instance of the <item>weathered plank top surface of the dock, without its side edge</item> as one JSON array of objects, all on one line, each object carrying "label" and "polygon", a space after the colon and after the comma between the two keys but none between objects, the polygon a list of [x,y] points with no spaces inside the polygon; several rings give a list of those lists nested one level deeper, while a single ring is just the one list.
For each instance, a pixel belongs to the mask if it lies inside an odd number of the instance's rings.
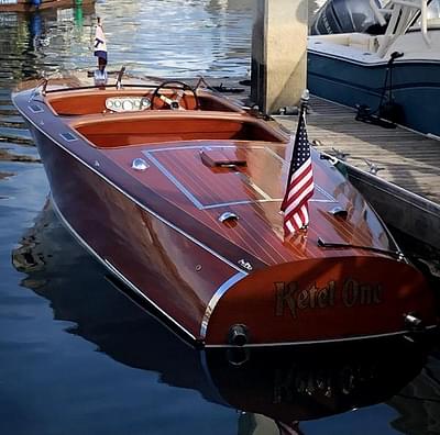
[{"label": "weathered plank top surface of the dock, without its side edge", "polygon": [[[384,129],[355,120],[355,110],[312,96],[307,116],[310,141],[318,149],[369,172],[366,163],[381,169],[377,177],[440,204],[440,141],[404,127]],[[275,116],[295,132],[298,116]]]}]

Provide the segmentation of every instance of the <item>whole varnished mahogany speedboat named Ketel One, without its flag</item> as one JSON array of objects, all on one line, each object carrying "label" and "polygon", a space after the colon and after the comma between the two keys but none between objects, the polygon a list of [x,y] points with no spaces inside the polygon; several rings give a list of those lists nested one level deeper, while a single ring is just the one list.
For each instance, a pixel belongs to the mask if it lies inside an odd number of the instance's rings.
[{"label": "whole varnished mahogany speedboat named Ketel One, without its flag", "polygon": [[424,276],[315,149],[310,225],[284,238],[292,150],[276,123],[182,82],[45,82],[13,102],[61,220],[186,337],[268,346],[437,324]]}]

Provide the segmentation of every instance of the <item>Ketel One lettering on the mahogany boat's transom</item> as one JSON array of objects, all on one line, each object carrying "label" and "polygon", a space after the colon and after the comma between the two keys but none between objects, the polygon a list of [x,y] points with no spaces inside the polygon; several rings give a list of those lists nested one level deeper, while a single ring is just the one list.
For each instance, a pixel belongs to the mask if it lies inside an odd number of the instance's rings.
[{"label": "Ketel One lettering on the mahogany boat's transom", "polygon": [[334,306],[339,300],[344,306],[352,308],[380,304],[383,298],[381,285],[362,283],[352,278],[346,279],[340,288],[337,281],[329,281],[324,287],[319,288],[314,283],[302,290],[296,281],[275,282],[275,315],[283,315],[288,308],[294,319],[297,317],[298,310]]}]

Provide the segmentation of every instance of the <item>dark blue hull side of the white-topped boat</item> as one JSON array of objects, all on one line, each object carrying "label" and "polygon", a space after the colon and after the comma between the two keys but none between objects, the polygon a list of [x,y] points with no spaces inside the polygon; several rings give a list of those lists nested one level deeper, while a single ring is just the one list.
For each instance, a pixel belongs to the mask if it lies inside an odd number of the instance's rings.
[{"label": "dark blue hull side of the white-topped boat", "polygon": [[[365,104],[372,113],[378,114],[386,74],[386,63],[358,64],[308,52],[311,93],[353,108]],[[392,79],[393,100],[400,107],[398,123],[440,136],[440,63],[396,62]]]}]

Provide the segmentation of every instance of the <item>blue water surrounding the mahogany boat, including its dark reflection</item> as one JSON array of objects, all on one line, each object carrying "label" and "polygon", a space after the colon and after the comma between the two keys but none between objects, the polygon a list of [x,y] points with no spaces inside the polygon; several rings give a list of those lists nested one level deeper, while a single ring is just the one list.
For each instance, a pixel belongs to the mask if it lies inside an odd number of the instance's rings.
[{"label": "blue water surrounding the mahogany boat, including its dark reflection", "polygon": [[122,295],[46,203],[43,167],[9,98],[16,81],[91,68],[97,14],[111,69],[243,77],[252,3],[121,0],[0,14],[0,433],[440,433],[436,347],[195,350]]}]

